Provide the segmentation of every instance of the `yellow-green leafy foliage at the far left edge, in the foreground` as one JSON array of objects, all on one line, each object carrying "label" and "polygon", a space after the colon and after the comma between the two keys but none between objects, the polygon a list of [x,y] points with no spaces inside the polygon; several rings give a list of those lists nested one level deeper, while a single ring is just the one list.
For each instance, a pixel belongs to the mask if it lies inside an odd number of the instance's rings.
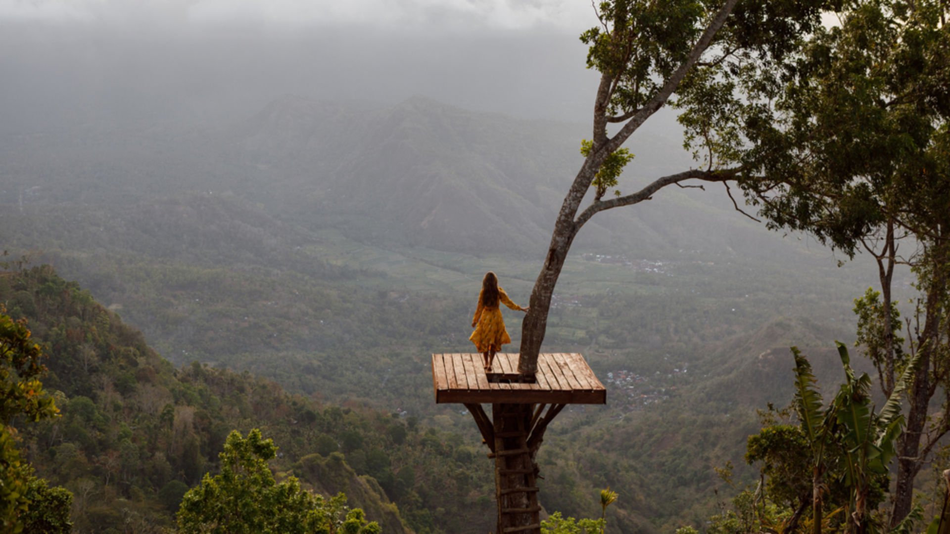
[{"label": "yellow-green leafy foliage at the far left edge, in the foreground", "polygon": [[40,381],[46,372],[43,351],[32,342],[26,321],[14,321],[6,312],[0,304],[0,525],[10,532],[25,527],[32,532],[68,532],[72,494],[34,477],[16,447],[15,418],[40,421],[59,410]]}]

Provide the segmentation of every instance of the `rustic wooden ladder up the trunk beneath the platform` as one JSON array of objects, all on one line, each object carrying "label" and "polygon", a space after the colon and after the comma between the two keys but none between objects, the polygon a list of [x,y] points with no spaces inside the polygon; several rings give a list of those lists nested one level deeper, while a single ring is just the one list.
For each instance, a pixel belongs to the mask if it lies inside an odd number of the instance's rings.
[{"label": "rustic wooden ladder up the trunk beneath the platform", "polygon": [[540,534],[537,470],[528,447],[532,405],[493,404],[497,534]]}]

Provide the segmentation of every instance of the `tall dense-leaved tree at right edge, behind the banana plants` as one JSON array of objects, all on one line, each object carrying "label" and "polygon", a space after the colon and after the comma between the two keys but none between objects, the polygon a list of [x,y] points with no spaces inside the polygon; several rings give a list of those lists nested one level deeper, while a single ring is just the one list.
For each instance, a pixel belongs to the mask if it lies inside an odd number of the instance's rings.
[{"label": "tall dense-leaved tree at right edge, behind the banana plants", "polygon": [[[893,527],[910,510],[917,473],[950,432],[950,419],[930,416],[934,395],[950,391],[942,371],[950,351],[950,5],[843,7],[839,24],[815,29],[781,83],[755,85],[761,77],[746,76],[741,102],[733,94],[716,114],[716,124],[744,128],[752,148],[716,139],[731,147],[719,156],[745,169],[742,186],[771,226],[875,258],[880,301],[865,295],[857,311],[885,395],[907,357],[920,354],[924,372],[909,385]],[[909,254],[900,254],[902,240]],[[891,298],[900,263],[912,266],[921,294],[909,317],[909,351]]]}]

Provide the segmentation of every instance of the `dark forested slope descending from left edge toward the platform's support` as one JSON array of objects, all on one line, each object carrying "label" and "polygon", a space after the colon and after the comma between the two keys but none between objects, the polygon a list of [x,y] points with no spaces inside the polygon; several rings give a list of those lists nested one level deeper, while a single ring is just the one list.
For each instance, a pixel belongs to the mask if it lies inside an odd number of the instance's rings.
[{"label": "dark forested slope descending from left edge toward the platform's support", "polygon": [[399,412],[290,394],[246,372],[175,369],[48,267],[3,273],[0,302],[28,319],[48,354],[45,385],[62,417],[24,425],[23,448],[38,476],[73,492],[81,531],[170,526],[185,490],[216,471],[228,432],[252,428],[279,447],[279,476],[345,492],[385,532],[490,524],[480,497],[491,481],[480,451],[458,435]]}]

